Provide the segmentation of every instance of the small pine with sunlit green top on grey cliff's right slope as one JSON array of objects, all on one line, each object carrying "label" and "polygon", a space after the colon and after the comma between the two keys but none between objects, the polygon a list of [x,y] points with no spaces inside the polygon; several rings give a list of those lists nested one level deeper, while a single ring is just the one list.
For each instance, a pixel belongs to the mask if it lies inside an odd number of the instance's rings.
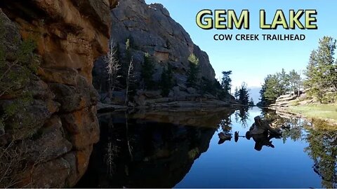
[{"label": "small pine with sunlit green top on grey cliff's right slope", "polygon": [[188,57],[189,70],[187,71],[187,87],[197,87],[199,73],[199,58],[194,54]]}]

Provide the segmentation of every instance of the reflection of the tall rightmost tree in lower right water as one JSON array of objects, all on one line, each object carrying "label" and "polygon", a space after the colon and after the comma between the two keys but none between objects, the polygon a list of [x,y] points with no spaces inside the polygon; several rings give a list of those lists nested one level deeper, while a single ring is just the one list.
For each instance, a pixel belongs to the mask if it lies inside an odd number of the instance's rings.
[{"label": "reflection of the tall rightmost tree in lower right water", "polygon": [[[326,127],[325,123],[315,123]],[[336,129],[320,129],[308,127],[305,141],[309,146],[305,148],[310,158],[314,160],[314,171],[322,177],[322,187],[337,187],[337,131]]]}]

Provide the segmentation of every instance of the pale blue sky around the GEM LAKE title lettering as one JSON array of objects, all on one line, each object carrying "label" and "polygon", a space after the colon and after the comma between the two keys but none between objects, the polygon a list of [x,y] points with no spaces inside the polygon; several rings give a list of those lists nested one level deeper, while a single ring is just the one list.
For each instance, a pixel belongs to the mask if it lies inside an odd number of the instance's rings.
[{"label": "pale blue sky around the GEM LAKE title lettering", "polygon": [[[318,39],[324,35],[337,38],[337,1],[335,0],[145,0],[147,3],[161,3],[171,17],[190,34],[194,43],[206,51],[216,71],[232,70],[233,85],[248,83],[250,87],[260,86],[268,73],[282,68],[305,69],[311,50],[317,48]],[[234,9],[241,13],[249,9],[249,30],[204,30],[195,23],[199,10]],[[259,10],[265,9],[267,22],[272,21],[277,9],[284,10],[286,18],[289,9],[316,9],[317,30],[262,30],[259,28]],[[303,19],[304,20],[304,16]],[[214,41],[214,34],[305,34],[305,41]]]}]

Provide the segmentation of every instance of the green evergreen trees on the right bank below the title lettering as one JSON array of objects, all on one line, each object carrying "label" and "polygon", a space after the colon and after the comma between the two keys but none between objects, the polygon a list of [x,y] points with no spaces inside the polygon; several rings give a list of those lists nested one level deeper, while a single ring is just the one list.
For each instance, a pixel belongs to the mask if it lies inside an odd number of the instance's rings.
[{"label": "green evergreen trees on the right bank below the title lettering", "polygon": [[319,39],[317,50],[312,50],[310,54],[304,83],[300,73],[295,70],[286,74],[282,69],[281,73],[268,75],[260,90],[261,102],[259,105],[268,106],[286,92],[299,95],[302,83],[308,88],[309,97],[315,97],[320,103],[336,102],[337,63],[334,58],[335,50],[336,39],[331,36]]}]

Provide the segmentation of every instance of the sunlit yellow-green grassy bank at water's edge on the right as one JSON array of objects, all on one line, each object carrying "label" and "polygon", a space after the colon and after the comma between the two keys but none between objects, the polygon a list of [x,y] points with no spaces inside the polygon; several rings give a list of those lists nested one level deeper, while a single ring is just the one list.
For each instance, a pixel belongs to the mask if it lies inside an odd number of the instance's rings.
[{"label": "sunlit yellow-green grassy bank at water's edge on the right", "polygon": [[337,105],[317,104],[317,105],[303,105],[291,106],[288,108],[293,113],[300,113],[308,118],[315,118],[321,120],[334,120],[337,123]]}]

